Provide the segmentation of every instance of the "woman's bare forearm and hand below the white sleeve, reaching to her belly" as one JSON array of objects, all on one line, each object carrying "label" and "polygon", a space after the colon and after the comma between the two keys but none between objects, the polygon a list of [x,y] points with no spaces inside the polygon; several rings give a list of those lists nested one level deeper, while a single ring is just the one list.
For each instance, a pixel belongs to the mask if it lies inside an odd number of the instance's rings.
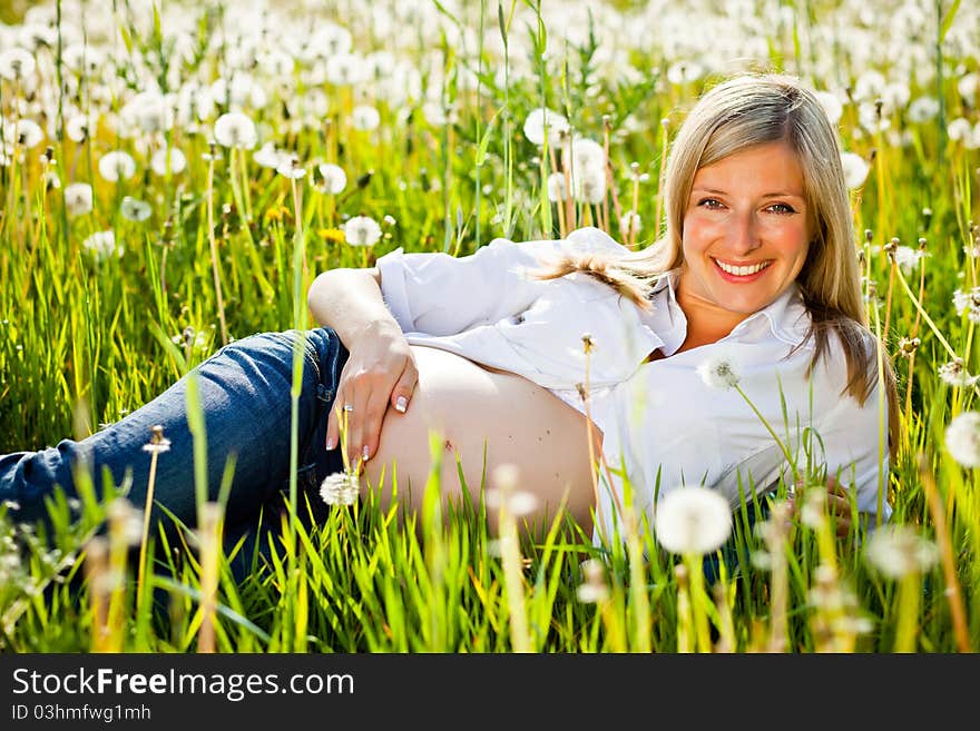
[{"label": "woman's bare forearm and hand below the white sleeve, reaching to her belly", "polygon": [[[356,465],[378,451],[389,404],[400,413],[408,409],[419,381],[415,358],[384,304],[376,268],[324,271],[310,286],[306,304],[350,352],[327,422],[326,448],[339,443],[343,414],[347,456]],[[341,411],[345,405],[353,411]]]}]

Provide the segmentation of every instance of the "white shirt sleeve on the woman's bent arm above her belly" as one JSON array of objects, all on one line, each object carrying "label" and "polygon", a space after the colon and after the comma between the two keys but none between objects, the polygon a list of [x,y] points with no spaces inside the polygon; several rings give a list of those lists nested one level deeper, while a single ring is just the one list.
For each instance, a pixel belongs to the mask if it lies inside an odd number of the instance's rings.
[{"label": "white shirt sleeve on the woman's bent arm above her belly", "polygon": [[398,248],[378,259],[378,269],[382,296],[401,328],[440,336],[526,310],[547,285],[528,270],[545,268],[550,257],[625,250],[604,231],[582,228],[558,240],[497,238],[462,257]]}]

